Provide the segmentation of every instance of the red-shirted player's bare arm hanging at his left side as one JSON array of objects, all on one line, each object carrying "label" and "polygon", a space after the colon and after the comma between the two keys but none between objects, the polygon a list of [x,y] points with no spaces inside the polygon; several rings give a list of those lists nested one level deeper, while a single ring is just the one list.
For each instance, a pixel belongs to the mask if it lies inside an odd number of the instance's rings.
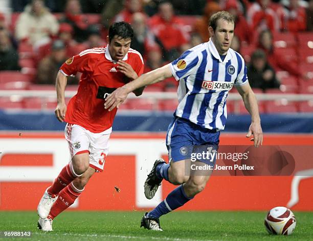
[{"label": "red-shirted player's bare arm hanging at his left side", "polygon": [[65,121],[66,105],[64,92],[67,83],[68,77],[62,74],[61,71],[59,71],[56,78],[57,107],[55,108],[54,113],[60,122]]}]

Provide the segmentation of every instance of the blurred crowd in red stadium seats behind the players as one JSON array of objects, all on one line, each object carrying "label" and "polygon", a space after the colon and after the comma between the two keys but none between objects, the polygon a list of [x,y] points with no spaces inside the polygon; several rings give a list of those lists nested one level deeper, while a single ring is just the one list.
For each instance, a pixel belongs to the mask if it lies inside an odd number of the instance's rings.
[{"label": "blurred crowd in red stadium seats behind the players", "polygon": [[[62,63],[82,50],[105,46],[108,26],[118,21],[132,25],[135,37],[131,48],[142,54],[148,72],[207,42],[208,19],[226,10],[236,17],[232,48],[248,63],[248,77],[255,92],[313,93],[313,0],[3,2],[3,90],[51,89],[49,85],[55,84]],[[7,8],[2,9],[5,5]],[[73,77],[69,84],[77,85],[78,78]],[[168,79],[147,90],[171,91],[176,85],[174,79]],[[1,103],[0,108],[5,107]]]}]

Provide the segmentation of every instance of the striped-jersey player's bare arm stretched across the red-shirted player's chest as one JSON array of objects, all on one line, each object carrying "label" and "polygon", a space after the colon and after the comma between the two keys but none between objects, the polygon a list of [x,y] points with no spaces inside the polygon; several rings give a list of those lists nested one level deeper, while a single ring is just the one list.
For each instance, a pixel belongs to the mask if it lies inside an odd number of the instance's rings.
[{"label": "striped-jersey player's bare arm stretched across the red-shirted player's chest", "polygon": [[109,111],[113,110],[115,107],[119,108],[130,92],[147,85],[161,82],[171,76],[172,71],[169,67],[169,64],[142,74],[140,77],[135,79],[135,81],[129,82],[128,84],[116,89],[108,97],[106,97],[104,108],[108,109]]}]

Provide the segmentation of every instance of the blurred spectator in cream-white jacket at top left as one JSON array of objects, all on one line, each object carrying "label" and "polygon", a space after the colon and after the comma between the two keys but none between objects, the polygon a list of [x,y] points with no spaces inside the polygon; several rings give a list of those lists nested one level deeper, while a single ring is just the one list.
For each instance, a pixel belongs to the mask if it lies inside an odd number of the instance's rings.
[{"label": "blurred spectator in cream-white jacket at top left", "polygon": [[26,6],[16,22],[15,36],[18,41],[28,41],[34,45],[44,38],[58,32],[59,24],[56,17],[44,7],[42,0],[33,0],[31,5]]}]

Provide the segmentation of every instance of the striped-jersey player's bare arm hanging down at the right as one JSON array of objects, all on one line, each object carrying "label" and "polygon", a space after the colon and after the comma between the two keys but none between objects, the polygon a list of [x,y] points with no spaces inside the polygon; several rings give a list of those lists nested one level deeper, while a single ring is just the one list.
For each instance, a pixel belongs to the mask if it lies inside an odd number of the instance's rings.
[{"label": "striped-jersey player's bare arm hanging down at the right", "polygon": [[263,143],[263,132],[257,99],[249,83],[242,86],[237,86],[237,90],[242,97],[245,109],[247,109],[251,115],[251,125],[246,136],[249,138],[251,135],[253,135],[251,140],[254,140],[254,146],[259,147]]}]

